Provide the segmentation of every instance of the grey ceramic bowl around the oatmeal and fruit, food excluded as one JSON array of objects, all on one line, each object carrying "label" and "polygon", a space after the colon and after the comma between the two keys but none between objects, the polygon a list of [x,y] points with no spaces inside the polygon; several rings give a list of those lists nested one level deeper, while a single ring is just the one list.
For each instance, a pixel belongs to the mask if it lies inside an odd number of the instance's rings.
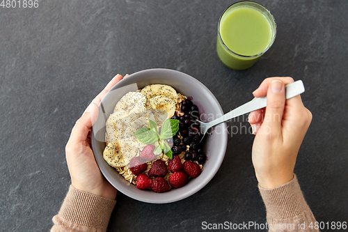
[{"label": "grey ceramic bowl around the oatmeal and fruit, food excluded", "polygon": [[205,113],[209,117],[219,117],[223,114],[219,102],[212,92],[202,83],[193,77],[175,70],[168,69],[149,69],[135,72],[125,79],[118,82],[111,90],[106,93],[102,102],[100,102],[100,114],[97,122],[93,125],[92,148],[95,160],[103,175],[113,187],[123,194],[133,199],[148,203],[169,203],[179,201],[195,194],[202,189],[214,177],[219,170],[223,157],[225,157],[227,147],[226,123],[216,125],[216,130],[212,134],[205,135],[205,144],[203,151],[207,155],[202,173],[197,178],[189,180],[187,185],[180,188],[173,188],[169,192],[155,193],[150,190],[139,190],[135,185],[125,180],[115,169],[109,166],[103,159],[103,150],[105,148],[104,134],[105,122],[113,112],[113,108],[122,95],[128,91],[135,91],[137,88],[143,88],[149,84],[168,84],[173,86],[178,93],[191,96],[193,103],[198,105],[200,113]]}]

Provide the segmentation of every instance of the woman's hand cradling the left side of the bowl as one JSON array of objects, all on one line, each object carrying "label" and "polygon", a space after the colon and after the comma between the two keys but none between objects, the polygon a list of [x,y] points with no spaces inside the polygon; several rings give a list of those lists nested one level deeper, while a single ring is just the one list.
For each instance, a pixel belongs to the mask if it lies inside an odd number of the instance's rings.
[{"label": "woman's hand cradling the left side of the bowl", "polygon": [[65,147],[72,186],[107,199],[115,199],[117,190],[104,178],[90,149],[90,128],[97,120],[98,105],[109,89],[123,77],[116,75],[104,90],[90,103],[81,118],[77,120]]}]

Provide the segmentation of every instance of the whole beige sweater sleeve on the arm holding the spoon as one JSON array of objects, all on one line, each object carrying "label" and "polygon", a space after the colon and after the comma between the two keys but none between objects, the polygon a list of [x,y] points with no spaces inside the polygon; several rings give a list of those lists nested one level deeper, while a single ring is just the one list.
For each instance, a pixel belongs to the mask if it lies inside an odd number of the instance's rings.
[{"label": "whole beige sweater sleeve on the arm holding the spoon", "polygon": [[[315,218],[303,198],[296,176],[279,187],[271,190],[260,187],[266,205],[269,231],[319,231],[314,229]],[[310,223],[312,222],[312,228]]]}]

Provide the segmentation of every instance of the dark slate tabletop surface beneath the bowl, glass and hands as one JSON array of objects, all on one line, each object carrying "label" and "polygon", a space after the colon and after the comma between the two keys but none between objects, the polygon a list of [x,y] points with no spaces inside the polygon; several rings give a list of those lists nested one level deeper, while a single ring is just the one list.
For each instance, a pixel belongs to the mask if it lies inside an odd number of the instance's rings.
[{"label": "dark slate tabletop surface beneath the bowl, glass and hands", "polygon": [[[273,47],[237,72],[216,56],[220,14],[235,1],[39,1],[0,8],[0,231],[48,231],[70,185],[65,143],[74,121],[120,73],[171,68],[196,77],[225,112],[262,79],[302,79],[313,123],[295,173],[319,222],[347,220],[347,1],[262,1]],[[229,127],[248,125],[245,118]],[[123,194],[109,231],[201,231],[202,222],[265,222],[251,164],[253,135],[230,135],[213,180],[165,205]],[[324,230],[327,231],[327,230]]]}]

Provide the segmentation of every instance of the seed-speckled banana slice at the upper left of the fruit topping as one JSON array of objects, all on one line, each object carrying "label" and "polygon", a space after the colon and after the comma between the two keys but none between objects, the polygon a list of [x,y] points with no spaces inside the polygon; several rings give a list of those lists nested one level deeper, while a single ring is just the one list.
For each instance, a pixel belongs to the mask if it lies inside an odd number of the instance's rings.
[{"label": "seed-speckled banana slice at the upper left of the fruit topping", "polygon": [[138,92],[128,92],[117,102],[113,111],[126,111],[129,113],[135,107],[145,106],[145,102],[145,95]]}]

